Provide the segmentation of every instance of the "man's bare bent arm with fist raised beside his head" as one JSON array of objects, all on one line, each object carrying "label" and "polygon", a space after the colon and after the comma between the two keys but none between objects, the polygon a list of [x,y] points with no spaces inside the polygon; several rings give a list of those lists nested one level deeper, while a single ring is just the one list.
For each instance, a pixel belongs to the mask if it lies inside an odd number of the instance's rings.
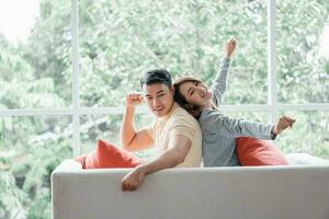
[{"label": "man's bare bent arm with fist raised beside his head", "polygon": [[121,140],[123,148],[126,150],[143,150],[154,145],[154,140],[147,130],[141,129],[137,131],[134,125],[135,107],[141,101],[140,94],[127,94],[126,96],[126,110],[121,126]]}]

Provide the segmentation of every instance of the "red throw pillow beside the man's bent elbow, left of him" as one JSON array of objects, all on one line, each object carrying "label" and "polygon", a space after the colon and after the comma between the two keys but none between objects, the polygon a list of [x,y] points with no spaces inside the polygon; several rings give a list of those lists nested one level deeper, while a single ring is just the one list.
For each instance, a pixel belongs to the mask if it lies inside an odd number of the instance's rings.
[{"label": "red throw pillow beside the man's bent elbow, left of him", "polygon": [[75,159],[82,164],[82,169],[104,168],[135,168],[144,161],[133,153],[99,140],[94,151]]}]

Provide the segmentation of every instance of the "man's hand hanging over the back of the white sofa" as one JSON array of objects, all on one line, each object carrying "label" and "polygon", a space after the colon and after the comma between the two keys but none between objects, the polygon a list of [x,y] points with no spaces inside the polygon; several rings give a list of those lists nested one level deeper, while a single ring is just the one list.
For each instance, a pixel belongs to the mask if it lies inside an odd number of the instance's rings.
[{"label": "man's hand hanging over the back of the white sofa", "polygon": [[143,183],[146,173],[143,168],[136,168],[122,180],[122,191],[136,191]]}]

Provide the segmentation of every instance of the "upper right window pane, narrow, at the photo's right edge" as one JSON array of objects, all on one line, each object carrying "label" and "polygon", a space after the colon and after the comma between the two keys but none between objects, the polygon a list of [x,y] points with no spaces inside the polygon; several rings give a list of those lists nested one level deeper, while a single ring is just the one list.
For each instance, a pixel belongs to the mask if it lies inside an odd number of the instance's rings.
[{"label": "upper right window pane, narrow, at the photo's right edge", "polygon": [[276,5],[279,101],[328,103],[328,0],[277,0]]}]

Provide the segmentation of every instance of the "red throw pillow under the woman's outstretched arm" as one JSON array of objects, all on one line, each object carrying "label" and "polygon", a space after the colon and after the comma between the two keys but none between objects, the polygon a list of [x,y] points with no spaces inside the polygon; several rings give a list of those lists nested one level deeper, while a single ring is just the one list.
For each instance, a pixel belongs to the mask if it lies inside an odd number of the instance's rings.
[{"label": "red throw pillow under the woman's outstretched arm", "polygon": [[283,153],[271,140],[250,137],[237,139],[237,153],[241,165],[287,165]]}]

